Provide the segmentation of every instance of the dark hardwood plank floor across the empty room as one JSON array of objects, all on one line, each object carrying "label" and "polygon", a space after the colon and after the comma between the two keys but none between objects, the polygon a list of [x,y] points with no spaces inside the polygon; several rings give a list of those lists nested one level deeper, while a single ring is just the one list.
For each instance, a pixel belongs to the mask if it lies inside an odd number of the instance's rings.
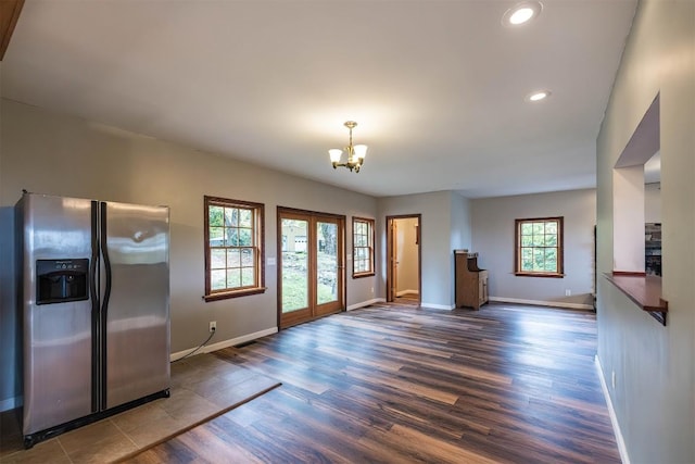
[{"label": "dark hardwood plank floor across the empty room", "polygon": [[590,312],[380,304],[216,354],[283,385],[135,463],[619,463]]}]

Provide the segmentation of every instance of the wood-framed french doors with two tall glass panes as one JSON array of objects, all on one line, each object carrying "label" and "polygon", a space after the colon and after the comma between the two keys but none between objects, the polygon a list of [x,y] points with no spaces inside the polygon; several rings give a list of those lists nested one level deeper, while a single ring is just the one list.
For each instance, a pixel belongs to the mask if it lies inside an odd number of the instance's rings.
[{"label": "wood-framed french doors with two tall glass panes", "polygon": [[344,216],[278,208],[281,328],[345,308]]}]

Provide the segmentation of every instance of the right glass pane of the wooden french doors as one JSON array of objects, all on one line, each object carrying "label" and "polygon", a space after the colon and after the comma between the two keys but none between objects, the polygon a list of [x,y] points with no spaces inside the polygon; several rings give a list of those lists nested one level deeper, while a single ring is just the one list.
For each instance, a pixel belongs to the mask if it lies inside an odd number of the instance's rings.
[{"label": "right glass pane of the wooden french doors", "polygon": [[338,224],[316,223],[317,304],[338,300]]}]

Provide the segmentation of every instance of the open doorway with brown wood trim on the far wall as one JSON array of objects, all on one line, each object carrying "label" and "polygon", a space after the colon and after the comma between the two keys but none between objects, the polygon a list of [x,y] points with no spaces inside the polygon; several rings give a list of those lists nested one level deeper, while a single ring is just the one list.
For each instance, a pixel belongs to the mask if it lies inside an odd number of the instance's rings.
[{"label": "open doorway with brown wood trim on the far wall", "polygon": [[421,215],[387,216],[387,301],[420,305]]}]

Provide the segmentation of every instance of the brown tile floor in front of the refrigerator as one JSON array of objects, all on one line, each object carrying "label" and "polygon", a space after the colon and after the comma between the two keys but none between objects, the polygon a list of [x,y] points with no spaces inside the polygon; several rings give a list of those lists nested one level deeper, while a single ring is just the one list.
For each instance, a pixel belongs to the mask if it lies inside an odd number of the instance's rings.
[{"label": "brown tile floor in front of the refrigerator", "polygon": [[172,364],[170,398],[159,399],[36,444],[22,447],[14,415],[0,429],[0,463],[106,463],[210,421],[279,384],[212,354]]}]

